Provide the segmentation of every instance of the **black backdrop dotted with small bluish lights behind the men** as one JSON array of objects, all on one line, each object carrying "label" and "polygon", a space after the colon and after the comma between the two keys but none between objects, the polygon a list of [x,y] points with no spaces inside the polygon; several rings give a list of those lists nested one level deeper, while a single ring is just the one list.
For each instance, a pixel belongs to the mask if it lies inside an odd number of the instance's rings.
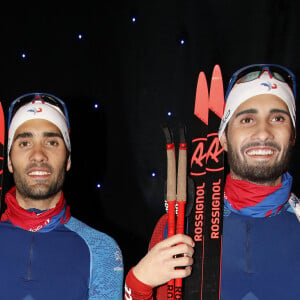
[{"label": "black backdrop dotted with small bluish lights behind the men", "polygon": [[[300,78],[300,3],[90,1],[23,3],[0,12],[0,100],[42,91],[69,108],[75,217],[113,236],[125,271],[164,213],[162,125],[191,127],[197,77],[221,66],[278,63]],[[291,172],[300,194],[297,151]],[[298,172],[299,173],[299,172]],[[4,173],[4,192],[11,186]],[[3,197],[2,197],[3,198]],[[2,199],[3,201],[3,199]]]}]

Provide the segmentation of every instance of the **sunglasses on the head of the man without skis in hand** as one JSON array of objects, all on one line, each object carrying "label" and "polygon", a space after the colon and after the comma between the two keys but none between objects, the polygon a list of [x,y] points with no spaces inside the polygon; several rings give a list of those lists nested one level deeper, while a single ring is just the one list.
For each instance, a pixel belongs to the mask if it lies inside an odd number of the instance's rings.
[{"label": "sunglasses on the head of the man without skis in hand", "polygon": [[8,110],[8,128],[10,127],[11,120],[15,115],[15,113],[18,111],[18,109],[25,104],[28,104],[30,102],[34,103],[35,101],[49,103],[59,108],[61,112],[64,114],[67,120],[68,129],[70,130],[69,114],[65,103],[58,97],[48,93],[28,93],[15,99],[11,103]]}]

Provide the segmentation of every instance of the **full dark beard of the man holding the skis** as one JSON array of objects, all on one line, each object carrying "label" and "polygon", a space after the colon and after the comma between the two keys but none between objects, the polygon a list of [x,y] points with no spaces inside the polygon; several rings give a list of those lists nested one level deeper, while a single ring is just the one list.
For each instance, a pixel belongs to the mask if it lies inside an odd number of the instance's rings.
[{"label": "full dark beard of the man holding the skis", "polygon": [[[250,166],[248,165],[247,161],[242,161],[238,156],[238,153],[232,149],[231,143],[227,138],[227,145],[228,145],[228,152],[227,158],[228,163],[230,166],[230,170],[232,170],[237,176],[239,176],[242,180],[247,180],[252,183],[260,184],[260,185],[270,185],[271,183],[275,182],[284,172],[288,170],[289,163],[292,156],[292,142],[290,140],[289,145],[286,149],[286,152],[283,154],[282,159],[280,161],[275,162],[272,166],[264,166],[256,165]],[[252,146],[271,146],[278,150],[280,147],[273,143],[256,143]],[[247,145],[249,147],[249,145]],[[242,149],[241,149],[242,150]],[[244,153],[244,151],[241,151]]]}]

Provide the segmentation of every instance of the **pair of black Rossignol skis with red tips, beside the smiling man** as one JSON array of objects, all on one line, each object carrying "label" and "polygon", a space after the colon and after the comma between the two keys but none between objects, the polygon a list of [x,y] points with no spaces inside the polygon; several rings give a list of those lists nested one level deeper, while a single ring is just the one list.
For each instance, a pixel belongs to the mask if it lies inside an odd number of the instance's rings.
[{"label": "pair of black Rossignol skis with red tips, beside the smiling man", "polygon": [[195,241],[192,275],[184,280],[183,299],[220,299],[224,194],[224,152],[218,139],[224,89],[219,65],[210,90],[204,72],[198,77],[194,106],[190,176],[195,199],[186,233]]}]

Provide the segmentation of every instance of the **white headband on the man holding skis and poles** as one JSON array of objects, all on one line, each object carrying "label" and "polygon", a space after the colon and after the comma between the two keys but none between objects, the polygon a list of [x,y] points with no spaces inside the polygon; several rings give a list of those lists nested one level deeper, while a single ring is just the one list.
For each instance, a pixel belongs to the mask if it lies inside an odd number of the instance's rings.
[{"label": "white headband on the man holding skis and poles", "polygon": [[296,128],[296,104],[294,94],[286,82],[270,78],[268,74],[263,73],[259,78],[236,83],[230,91],[224,109],[223,118],[219,127],[219,138],[221,138],[230,118],[235,110],[246,100],[263,94],[271,94],[279,97],[285,102],[289,109],[294,128]]}]

